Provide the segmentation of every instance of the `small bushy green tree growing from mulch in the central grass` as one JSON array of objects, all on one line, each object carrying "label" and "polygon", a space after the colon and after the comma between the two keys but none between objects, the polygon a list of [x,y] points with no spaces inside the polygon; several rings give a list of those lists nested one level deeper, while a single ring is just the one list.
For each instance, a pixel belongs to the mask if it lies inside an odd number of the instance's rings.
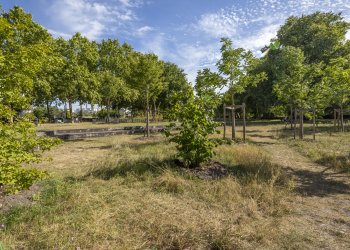
[{"label": "small bushy green tree growing from mulch in the central grass", "polygon": [[221,77],[208,69],[199,71],[196,78],[196,95],[187,92],[185,103],[177,103],[173,107],[172,118],[181,122],[180,131],[171,133],[172,123],[166,131],[170,141],[175,142],[178,156],[185,166],[198,167],[210,160],[214,155],[217,143],[209,138],[215,132],[219,123],[214,121],[215,110],[220,104],[221,94],[216,92],[221,86]]}]

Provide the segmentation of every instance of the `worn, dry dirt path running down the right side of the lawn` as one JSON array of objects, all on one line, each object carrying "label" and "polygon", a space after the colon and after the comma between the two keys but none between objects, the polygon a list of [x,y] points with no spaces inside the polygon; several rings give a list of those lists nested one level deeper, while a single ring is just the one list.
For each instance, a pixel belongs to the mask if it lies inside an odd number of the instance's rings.
[{"label": "worn, dry dirt path running down the right side of the lawn", "polygon": [[[274,130],[259,127],[249,135],[273,162],[290,172],[296,183],[291,214],[281,228],[300,241],[297,248],[350,249],[350,178],[312,162],[283,141]],[[294,236],[291,236],[295,234]],[[286,246],[288,248],[288,246]]]}]

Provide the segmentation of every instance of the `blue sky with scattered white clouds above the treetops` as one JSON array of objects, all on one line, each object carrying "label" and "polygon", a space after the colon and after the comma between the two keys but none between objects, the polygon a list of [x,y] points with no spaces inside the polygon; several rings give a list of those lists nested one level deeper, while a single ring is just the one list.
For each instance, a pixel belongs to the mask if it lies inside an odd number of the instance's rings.
[{"label": "blue sky with scattered white clouds above the treetops", "polygon": [[153,52],[183,68],[192,82],[198,70],[215,70],[221,37],[261,56],[291,15],[332,11],[350,21],[350,0],[0,0],[0,5],[21,6],[55,37],[80,32]]}]

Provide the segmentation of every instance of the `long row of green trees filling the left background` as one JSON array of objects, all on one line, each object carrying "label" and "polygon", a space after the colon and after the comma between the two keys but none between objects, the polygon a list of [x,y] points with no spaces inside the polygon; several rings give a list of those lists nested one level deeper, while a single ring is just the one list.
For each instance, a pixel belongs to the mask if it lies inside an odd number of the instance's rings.
[{"label": "long row of green trees filling the left background", "polygon": [[116,39],[90,41],[80,33],[70,39],[53,38],[30,14],[14,7],[1,15],[1,102],[14,111],[53,102],[89,103],[107,110],[128,107],[152,111],[168,109],[190,84],[182,69],[155,54],[135,51]]}]

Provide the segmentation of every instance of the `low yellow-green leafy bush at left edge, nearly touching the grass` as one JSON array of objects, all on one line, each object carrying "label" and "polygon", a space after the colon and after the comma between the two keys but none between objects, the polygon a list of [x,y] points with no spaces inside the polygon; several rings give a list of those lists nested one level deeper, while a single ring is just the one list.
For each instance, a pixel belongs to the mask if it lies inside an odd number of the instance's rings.
[{"label": "low yellow-green leafy bush at left edge, nearly touching the grass", "polygon": [[21,117],[11,122],[10,110],[3,105],[0,110],[0,186],[6,193],[15,193],[46,176],[43,171],[22,165],[40,162],[41,153],[59,140],[38,137],[29,119]]}]

